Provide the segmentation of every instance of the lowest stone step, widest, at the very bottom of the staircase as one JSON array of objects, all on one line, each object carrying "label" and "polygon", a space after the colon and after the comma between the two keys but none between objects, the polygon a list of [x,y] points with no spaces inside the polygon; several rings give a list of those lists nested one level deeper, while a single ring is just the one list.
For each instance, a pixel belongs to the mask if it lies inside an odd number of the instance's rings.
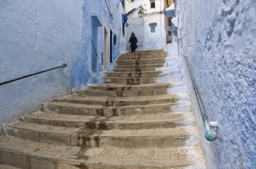
[{"label": "lowest stone step, widest, at the very bottom of the staircase", "polygon": [[0,152],[1,163],[26,169],[205,168],[199,145],[84,149],[4,136],[0,137]]}]

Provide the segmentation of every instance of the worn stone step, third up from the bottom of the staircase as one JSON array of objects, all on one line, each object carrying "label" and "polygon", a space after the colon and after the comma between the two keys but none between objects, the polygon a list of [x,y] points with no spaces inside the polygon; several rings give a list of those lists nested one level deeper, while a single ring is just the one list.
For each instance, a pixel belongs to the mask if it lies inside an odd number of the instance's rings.
[{"label": "worn stone step, third up from the bottom of the staircase", "polygon": [[102,117],[38,111],[24,115],[21,119],[39,124],[90,129],[176,128],[195,124],[192,112]]}]

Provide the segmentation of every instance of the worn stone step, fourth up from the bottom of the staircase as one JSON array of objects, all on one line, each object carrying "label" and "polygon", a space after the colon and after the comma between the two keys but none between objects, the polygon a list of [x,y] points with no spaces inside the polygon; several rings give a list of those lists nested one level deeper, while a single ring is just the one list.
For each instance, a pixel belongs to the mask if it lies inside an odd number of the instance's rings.
[{"label": "worn stone step, fourth up from the bottom of the staircase", "polygon": [[82,105],[67,102],[44,103],[42,110],[59,112],[61,114],[81,115],[134,115],[134,114],[159,114],[165,112],[190,111],[190,103],[161,103],[149,105],[130,105],[122,107],[104,107],[99,105]]}]

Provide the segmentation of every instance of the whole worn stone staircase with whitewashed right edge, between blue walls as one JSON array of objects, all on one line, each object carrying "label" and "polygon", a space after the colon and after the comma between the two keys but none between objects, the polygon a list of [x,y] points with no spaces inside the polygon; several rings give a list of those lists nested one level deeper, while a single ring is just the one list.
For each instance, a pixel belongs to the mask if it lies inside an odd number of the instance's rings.
[{"label": "whole worn stone staircase with whitewashed right edge, between blue walls", "polygon": [[0,168],[205,168],[176,54],[120,55],[104,84],[6,124]]}]

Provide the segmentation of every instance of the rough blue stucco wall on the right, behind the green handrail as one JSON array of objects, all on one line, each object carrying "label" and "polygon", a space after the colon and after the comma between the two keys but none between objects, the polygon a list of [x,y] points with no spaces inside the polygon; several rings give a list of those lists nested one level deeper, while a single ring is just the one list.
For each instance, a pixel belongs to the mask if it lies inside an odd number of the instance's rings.
[{"label": "rough blue stucco wall on the right, behind the green handrail", "polygon": [[[207,168],[256,166],[256,1],[176,1],[179,55],[202,133]],[[183,55],[198,85],[217,140],[204,140]],[[200,122],[201,121],[201,122]]]}]

